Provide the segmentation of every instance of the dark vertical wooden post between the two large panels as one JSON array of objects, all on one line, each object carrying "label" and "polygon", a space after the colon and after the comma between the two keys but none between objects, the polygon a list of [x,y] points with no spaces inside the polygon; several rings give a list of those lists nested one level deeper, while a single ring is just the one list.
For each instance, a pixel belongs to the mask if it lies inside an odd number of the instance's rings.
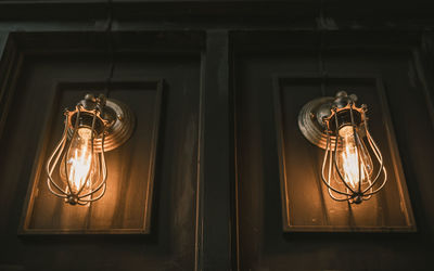
[{"label": "dark vertical wooden post between the two large panels", "polygon": [[199,270],[231,269],[229,38],[207,33],[202,75]]}]

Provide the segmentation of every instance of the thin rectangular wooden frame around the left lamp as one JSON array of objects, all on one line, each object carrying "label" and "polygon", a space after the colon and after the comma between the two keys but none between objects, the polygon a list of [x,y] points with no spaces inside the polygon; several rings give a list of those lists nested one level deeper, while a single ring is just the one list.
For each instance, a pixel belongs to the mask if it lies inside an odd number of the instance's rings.
[{"label": "thin rectangular wooden frame around the left lamp", "polygon": [[[44,120],[44,127],[42,129],[43,134],[40,137],[37,155],[34,162],[34,168],[31,173],[30,183],[27,191],[27,196],[24,204],[22,222],[20,225],[18,233],[23,235],[28,234],[149,234],[151,231],[151,210],[152,210],[152,198],[153,198],[153,184],[154,184],[154,176],[155,176],[155,158],[157,151],[157,142],[158,142],[158,131],[159,131],[159,122],[161,122],[161,111],[162,111],[162,95],[163,95],[163,79],[142,79],[141,81],[131,81],[131,80],[115,80],[112,82],[113,86],[126,86],[126,87],[142,87],[144,85],[153,85],[155,86],[155,109],[154,109],[154,125],[151,131],[152,133],[152,142],[151,142],[151,152],[150,152],[150,166],[149,166],[149,176],[148,178],[148,186],[146,191],[144,191],[145,197],[145,206],[142,206],[144,212],[144,220],[142,221],[142,227],[138,229],[107,229],[107,230],[98,230],[98,229],[65,229],[65,228],[54,228],[54,229],[31,229],[29,228],[29,222],[31,219],[31,214],[34,209],[35,196],[38,193],[38,186],[41,181],[41,171],[43,170],[43,166],[46,164],[46,157],[51,152],[48,150],[48,132],[51,131],[50,126],[52,125],[52,120],[55,117],[54,112],[56,112],[55,101],[60,95],[60,92],[65,88],[74,88],[74,89],[103,89],[105,82],[103,81],[62,81],[56,80],[54,82],[54,87],[52,88],[55,93],[52,93],[52,100],[48,103],[50,104],[50,113],[48,114]],[[136,118],[140,118],[140,116],[136,116]],[[122,146],[120,146],[122,147]],[[110,168],[107,169],[110,173]],[[136,179],[135,181],[141,181],[140,179]],[[61,199],[60,199],[61,201]]]}]

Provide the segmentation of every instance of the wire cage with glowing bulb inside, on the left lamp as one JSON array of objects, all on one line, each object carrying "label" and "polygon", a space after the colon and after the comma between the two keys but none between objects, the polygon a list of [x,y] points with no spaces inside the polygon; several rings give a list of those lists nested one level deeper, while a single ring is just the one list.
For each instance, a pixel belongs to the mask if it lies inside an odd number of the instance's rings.
[{"label": "wire cage with glowing bulb inside, on the left lamp", "polygon": [[47,163],[50,192],[72,205],[94,202],[106,190],[104,139],[111,121],[101,115],[104,105],[103,95],[86,95],[74,111],[65,109],[62,138]]}]

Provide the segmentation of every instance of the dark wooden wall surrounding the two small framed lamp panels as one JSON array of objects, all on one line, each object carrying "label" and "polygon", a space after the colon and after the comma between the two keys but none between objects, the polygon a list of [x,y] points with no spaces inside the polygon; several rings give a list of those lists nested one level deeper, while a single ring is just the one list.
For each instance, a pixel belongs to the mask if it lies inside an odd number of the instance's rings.
[{"label": "dark wooden wall surrounding the two small framed lamp panels", "polygon": [[[105,80],[108,17],[115,78],[165,82],[151,233],[18,235],[48,93]],[[430,1],[0,2],[0,270],[430,270],[433,18]],[[383,79],[416,233],[283,233],[272,80],[324,73]]]}]

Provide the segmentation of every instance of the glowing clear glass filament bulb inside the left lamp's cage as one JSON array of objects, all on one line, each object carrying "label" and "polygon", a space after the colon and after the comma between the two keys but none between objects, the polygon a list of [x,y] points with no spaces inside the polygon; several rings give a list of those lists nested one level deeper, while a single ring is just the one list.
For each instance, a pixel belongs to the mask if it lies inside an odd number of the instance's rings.
[{"label": "glowing clear glass filament bulb inside the left lamp's cage", "polygon": [[[71,188],[73,194],[91,192],[92,184],[99,178],[100,158],[95,152],[92,155],[91,136],[92,130],[90,128],[78,128],[60,166],[61,178],[65,183],[69,182],[68,188]],[[66,175],[68,178],[66,178]]]}]

